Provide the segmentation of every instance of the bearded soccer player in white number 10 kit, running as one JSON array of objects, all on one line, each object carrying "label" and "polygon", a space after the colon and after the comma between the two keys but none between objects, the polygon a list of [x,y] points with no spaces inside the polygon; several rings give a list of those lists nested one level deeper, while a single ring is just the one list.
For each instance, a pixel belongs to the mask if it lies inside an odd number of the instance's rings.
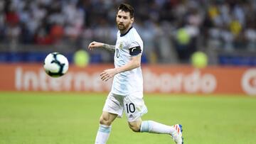
[{"label": "bearded soccer player in white number 10 kit, running", "polygon": [[171,135],[176,143],[183,143],[181,125],[166,126],[156,121],[142,121],[142,115],[147,112],[143,100],[143,78],[140,67],[143,42],[136,29],[132,27],[134,22],[132,6],[120,4],[116,22],[119,31],[115,45],[94,41],[88,46],[90,50],[105,48],[114,52],[114,68],[104,70],[100,74],[102,81],[112,77],[114,79],[100,116],[100,128],[97,131],[95,143],[107,143],[112,122],[115,118],[121,117],[123,112],[132,131],[164,133]]}]

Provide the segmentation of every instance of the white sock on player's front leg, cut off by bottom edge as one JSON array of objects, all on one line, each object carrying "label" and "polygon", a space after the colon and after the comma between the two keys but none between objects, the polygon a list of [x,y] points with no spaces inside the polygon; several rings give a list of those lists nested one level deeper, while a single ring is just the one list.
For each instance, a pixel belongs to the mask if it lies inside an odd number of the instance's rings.
[{"label": "white sock on player's front leg, cut off by bottom edge", "polygon": [[97,131],[95,144],[107,143],[107,140],[110,137],[110,131],[111,131],[111,126],[100,125],[100,128]]}]

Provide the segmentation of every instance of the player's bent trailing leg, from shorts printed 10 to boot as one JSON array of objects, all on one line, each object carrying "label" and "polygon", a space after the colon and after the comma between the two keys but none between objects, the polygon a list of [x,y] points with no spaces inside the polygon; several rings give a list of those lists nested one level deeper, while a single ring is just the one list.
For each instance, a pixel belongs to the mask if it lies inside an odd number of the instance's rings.
[{"label": "player's bent trailing leg, from shorts printed 10 to boot", "polygon": [[171,135],[176,143],[182,143],[181,126],[167,126],[156,121],[142,121],[141,116],[147,112],[143,96],[140,93],[124,98],[124,111],[127,115],[129,128],[135,132],[162,133]]}]

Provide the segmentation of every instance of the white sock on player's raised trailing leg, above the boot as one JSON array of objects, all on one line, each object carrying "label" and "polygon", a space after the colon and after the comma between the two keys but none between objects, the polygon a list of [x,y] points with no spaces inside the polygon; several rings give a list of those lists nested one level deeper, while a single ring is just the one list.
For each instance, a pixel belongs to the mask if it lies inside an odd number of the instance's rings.
[{"label": "white sock on player's raised trailing leg, above the boot", "polygon": [[142,126],[140,128],[140,132],[147,133],[165,133],[171,134],[174,133],[174,126],[166,126],[161,123],[157,123],[155,121],[142,121]]}]

